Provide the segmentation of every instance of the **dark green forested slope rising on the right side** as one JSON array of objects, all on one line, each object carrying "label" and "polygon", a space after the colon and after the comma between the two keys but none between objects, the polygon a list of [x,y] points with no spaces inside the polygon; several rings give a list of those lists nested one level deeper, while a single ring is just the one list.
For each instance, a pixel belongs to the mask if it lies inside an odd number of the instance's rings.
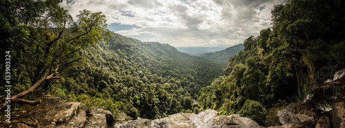
[{"label": "dark green forested slope rising on the right side", "polygon": [[[344,3],[296,0],[275,6],[273,28],[245,39],[244,51],[230,57],[226,76],[201,89],[200,110],[217,109],[221,115],[246,114],[255,110],[248,107],[253,104],[268,109],[266,118],[273,120],[286,96],[302,99],[311,93],[315,83],[329,77],[319,69],[329,65],[332,56],[345,55]],[[344,65],[334,68],[339,70]],[[255,120],[263,124],[264,118]],[[273,123],[268,121],[266,125]]]}]

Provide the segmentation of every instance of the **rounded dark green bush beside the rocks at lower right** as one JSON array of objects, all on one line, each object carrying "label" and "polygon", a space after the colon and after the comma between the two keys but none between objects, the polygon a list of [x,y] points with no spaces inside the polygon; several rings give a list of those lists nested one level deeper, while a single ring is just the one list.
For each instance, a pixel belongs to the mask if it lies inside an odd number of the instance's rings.
[{"label": "rounded dark green bush beside the rocks at lower right", "polygon": [[267,111],[264,106],[255,100],[246,100],[237,114],[255,120],[259,125],[264,124]]}]

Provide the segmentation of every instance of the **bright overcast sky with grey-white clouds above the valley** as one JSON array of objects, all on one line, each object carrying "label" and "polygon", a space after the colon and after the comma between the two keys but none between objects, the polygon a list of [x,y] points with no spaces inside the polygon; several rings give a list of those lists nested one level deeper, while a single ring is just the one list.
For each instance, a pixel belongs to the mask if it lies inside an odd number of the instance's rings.
[{"label": "bright overcast sky with grey-white clouds above the valley", "polygon": [[270,28],[270,10],[284,0],[71,0],[61,6],[103,12],[108,28],[141,41],[172,46],[243,43]]}]

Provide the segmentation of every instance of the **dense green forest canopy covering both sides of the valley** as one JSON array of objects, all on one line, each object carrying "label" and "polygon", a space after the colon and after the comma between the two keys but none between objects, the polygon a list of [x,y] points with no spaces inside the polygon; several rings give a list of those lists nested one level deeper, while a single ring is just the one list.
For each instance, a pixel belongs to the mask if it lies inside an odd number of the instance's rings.
[{"label": "dense green forest canopy covering both sides of the valley", "polygon": [[[167,44],[110,33],[101,12],[83,10],[72,21],[58,3],[1,1],[0,36],[6,47],[0,54],[10,50],[13,56],[13,94],[44,80],[39,89],[115,114],[124,111],[128,119],[215,109],[269,126],[277,109],[302,100],[345,67],[341,0],[275,6],[273,27],[245,39],[244,50],[228,59],[226,70]],[[44,79],[57,72],[60,77]],[[30,94],[23,98],[36,100]]]}]

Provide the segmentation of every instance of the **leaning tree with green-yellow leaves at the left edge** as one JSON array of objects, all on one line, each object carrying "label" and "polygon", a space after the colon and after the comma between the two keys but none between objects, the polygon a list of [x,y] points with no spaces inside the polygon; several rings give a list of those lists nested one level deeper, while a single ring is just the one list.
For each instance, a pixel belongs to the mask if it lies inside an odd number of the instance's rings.
[{"label": "leaning tree with green-yellow leaves at the left edge", "polygon": [[[110,34],[101,12],[82,10],[77,21],[73,21],[68,10],[59,6],[61,1],[4,0],[0,3],[0,55],[5,56],[6,51],[11,54],[9,85],[12,85],[12,94],[15,93],[11,103],[40,103],[40,100],[22,97],[39,85],[43,89],[50,87],[53,81],[81,64],[80,50],[107,41]],[[1,60],[1,69],[5,66],[4,60]],[[0,75],[4,80],[5,70],[1,70]],[[0,109],[6,105],[8,103],[2,102]]]}]

